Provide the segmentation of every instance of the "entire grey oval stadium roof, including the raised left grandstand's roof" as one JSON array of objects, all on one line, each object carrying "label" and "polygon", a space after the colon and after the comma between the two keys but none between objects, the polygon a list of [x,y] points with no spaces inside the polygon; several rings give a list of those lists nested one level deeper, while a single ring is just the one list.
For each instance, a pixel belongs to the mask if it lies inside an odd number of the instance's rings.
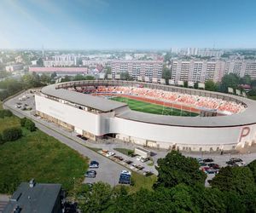
[{"label": "entire grey oval stadium roof, including the raised left grandstand's roof", "polygon": [[[70,82],[67,85],[73,85],[74,83],[83,82]],[[86,84],[88,83],[88,84]],[[65,83],[59,83],[62,85]],[[138,82],[125,82],[125,81],[84,81],[84,85],[122,85],[122,86],[135,86]],[[44,94],[53,95],[63,100],[72,101],[83,106],[88,106],[101,110],[102,112],[108,112],[110,110],[117,109],[119,107],[125,107],[124,110],[119,111],[115,116],[119,118],[130,119],[138,122],[150,123],[150,124],[162,124],[162,125],[173,125],[173,126],[190,126],[190,127],[230,127],[230,126],[241,126],[248,124],[256,124],[256,101],[249,100],[236,95],[228,95],[218,92],[211,92],[206,90],[198,89],[183,89],[173,86],[165,86],[154,83],[140,83],[146,86],[153,86],[154,88],[160,89],[176,89],[177,92],[183,92],[188,94],[196,94],[202,96],[212,96],[214,98],[224,98],[227,101],[237,101],[245,104],[247,108],[243,112],[232,114],[228,116],[217,116],[217,117],[180,117],[180,116],[167,116],[157,115],[145,112],[132,111],[127,107],[125,103],[118,101],[110,101],[102,97],[96,97],[93,95],[84,95],[74,91],[68,91],[67,89],[55,89],[56,85],[49,85],[42,89]],[[64,87],[65,88],[65,87]],[[171,91],[171,90],[170,90]]]}]

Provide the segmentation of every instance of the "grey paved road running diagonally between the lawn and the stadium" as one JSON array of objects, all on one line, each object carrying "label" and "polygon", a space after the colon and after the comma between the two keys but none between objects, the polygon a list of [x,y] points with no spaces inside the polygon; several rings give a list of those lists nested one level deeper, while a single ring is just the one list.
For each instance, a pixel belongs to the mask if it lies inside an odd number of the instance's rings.
[{"label": "grey paved road running diagonally between the lawn and the stadium", "polygon": [[[15,115],[19,117],[30,116],[30,112],[28,111],[21,111],[20,109],[15,108],[15,103],[17,102],[17,98],[11,99],[9,101],[6,101],[4,103],[4,107],[9,107],[9,109],[12,110],[12,112],[15,113]],[[28,102],[28,101],[26,101]],[[32,118],[32,117],[31,117]],[[51,130],[48,127],[46,127],[43,124],[40,124],[38,120],[34,120],[36,123],[36,126],[39,130],[44,131],[47,135],[51,135],[55,137],[58,141],[61,141],[61,143],[66,144],[68,147],[73,148],[74,150],[78,151],[80,154],[84,155],[87,158],[90,158],[90,160],[96,160],[99,162],[100,167],[97,170],[96,178],[85,178],[84,182],[94,182],[94,181],[104,181],[108,182],[110,185],[114,186],[118,184],[119,181],[119,173],[121,170],[126,170],[125,167],[114,163],[108,158],[103,157],[102,155],[95,153],[94,151],[90,150],[87,147],[84,147],[83,145],[79,144],[76,141],[73,141],[70,138],[67,138],[67,136],[61,135],[60,133],[56,132],[55,130]],[[66,132],[68,135],[68,133]]]}]

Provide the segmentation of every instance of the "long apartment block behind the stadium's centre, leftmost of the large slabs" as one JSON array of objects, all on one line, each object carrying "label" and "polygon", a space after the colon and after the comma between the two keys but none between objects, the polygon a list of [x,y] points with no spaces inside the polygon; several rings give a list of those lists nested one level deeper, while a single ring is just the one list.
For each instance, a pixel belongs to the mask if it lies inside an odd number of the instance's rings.
[{"label": "long apartment block behind the stadium's centre, leftmost of the large slabs", "polygon": [[134,79],[142,79],[152,82],[153,78],[160,81],[162,78],[162,60],[112,60],[112,78],[120,73],[128,72]]}]

